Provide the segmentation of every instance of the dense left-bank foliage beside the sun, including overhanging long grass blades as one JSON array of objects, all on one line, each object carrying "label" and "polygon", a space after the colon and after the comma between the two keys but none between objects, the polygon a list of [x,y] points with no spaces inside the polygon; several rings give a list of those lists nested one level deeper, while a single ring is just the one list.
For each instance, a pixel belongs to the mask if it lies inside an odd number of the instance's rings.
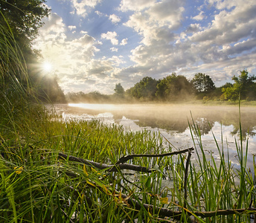
[{"label": "dense left-bank foliage beside the sun, including overhanging long grass blades", "polygon": [[[12,77],[16,78],[17,83],[27,88],[31,85],[30,94],[38,94],[36,97],[45,102],[64,102],[65,96],[57,83],[57,78],[42,74],[39,52],[32,49],[33,39],[43,25],[42,18],[50,13],[44,3],[45,0],[0,1],[1,62],[4,63],[4,67],[12,68]],[[8,54],[9,51],[13,51],[14,57],[17,56],[19,68],[12,55]],[[28,74],[25,81],[21,73]],[[13,91],[10,75],[4,75],[7,72],[2,74],[4,79],[0,83],[1,89]]]}]

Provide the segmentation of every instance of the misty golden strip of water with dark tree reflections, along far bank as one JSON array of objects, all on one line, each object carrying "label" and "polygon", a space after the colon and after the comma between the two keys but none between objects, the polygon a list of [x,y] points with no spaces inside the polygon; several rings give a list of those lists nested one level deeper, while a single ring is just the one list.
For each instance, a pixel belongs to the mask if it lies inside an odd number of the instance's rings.
[{"label": "misty golden strip of water with dark tree reflections, along far bank", "polygon": [[[185,132],[188,122],[196,123],[202,135],[211,132],[215,122],[223,126],[233,126],[231,135],[240,132],[240,119],[242,134],[256,135],[256,109],[242,107],[241,116],[235,106],[191,106],[191,105],[161,105],[161,104],[135,104],[135,105],[112,105],[112,104],[69,104],[65,108],[71,114],[88,114],[97,116],[104,112],[110,112],[116,123],[123,117],[129,120],[137,120],[140,127],[165,129],[173,132]],[[193,118],[193,120],[192,120]]]}]

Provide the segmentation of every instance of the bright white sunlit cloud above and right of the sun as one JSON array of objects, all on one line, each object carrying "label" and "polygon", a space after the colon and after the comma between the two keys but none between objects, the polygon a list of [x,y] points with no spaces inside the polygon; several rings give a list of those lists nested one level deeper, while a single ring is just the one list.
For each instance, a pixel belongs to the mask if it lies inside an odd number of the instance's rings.
[{"label": "bright white sunlit cloud above and right of the sun", "polygon": [[40,49],[42,56],[51,62],[54,73],[60,78],[60,85],[64,80],[71,82],[87,77],[89,62],[95,53],[98,42],[92,36],[84,33],[80,38],[67,39],[66,27],[63,20],[56,13],[45,19],[45,25],[39,30],[34,48]]}]

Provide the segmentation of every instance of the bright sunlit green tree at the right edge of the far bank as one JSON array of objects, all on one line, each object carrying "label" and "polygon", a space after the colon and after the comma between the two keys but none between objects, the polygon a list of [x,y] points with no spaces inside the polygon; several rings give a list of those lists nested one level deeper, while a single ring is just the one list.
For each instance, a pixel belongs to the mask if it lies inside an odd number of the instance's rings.
[{"label": "bright sunlit green tree at the right edge of the far bank", "polygon": [[256,80],[255,75],[249,76],[248,71],[240,71],[238,77],[232,77],[234,85],[223,88],[223,96],[225,100],[238,100],[239,95],[241,100],[256,99]]}]

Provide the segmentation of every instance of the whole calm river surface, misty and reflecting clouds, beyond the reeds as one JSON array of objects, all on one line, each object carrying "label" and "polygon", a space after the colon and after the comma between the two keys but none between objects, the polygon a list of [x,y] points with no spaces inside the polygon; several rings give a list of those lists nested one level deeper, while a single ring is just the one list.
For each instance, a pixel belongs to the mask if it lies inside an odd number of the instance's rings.
[{"label": "whole calm river surface, misty and reflecting clouds, beyond the reeds", "polygon": [[[253,154],[256,154],[256,108],[254,107],[242,107],[241,116],[238,106],[80,103],[57,105],[56,110],[58,114],[63,114],[63,120],[100,119],[103,123],[117,123],[132,131],[141,129],[159,131],[176,149],[193,146],[188,127],[193,117],[193,121],[202,132],[202,144],[206,153],[210,155],[212,152],[216,160],[218,159],[215,136],[220,147],[223,145],[225,153],[229,153],[234,167],[238,167],[235,139],[240,143],[239,117],[241,117],[243,147],[246,147],[248,138],[250,167],[253,165]],[[192,156],[195,157],[196,154]]]}]

